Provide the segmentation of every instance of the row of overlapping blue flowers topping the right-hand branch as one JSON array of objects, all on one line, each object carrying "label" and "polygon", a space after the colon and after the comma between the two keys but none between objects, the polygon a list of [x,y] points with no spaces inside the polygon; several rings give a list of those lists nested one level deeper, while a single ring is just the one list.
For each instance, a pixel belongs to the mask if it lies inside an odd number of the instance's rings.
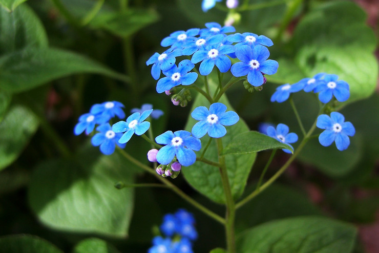
[{"label": "row of overlapping blue flowers topping the right-hand branch", "polygon": [[340,102],[344,102],[350,97],[348,83],[338,80],[338,75],[319,73],[312,78],[304,78],[293,85],[286,83],[279,86],[277,91],[272,94],[271,102],[284,102],[291,93],[301,90],[319,93],[319,99],[323,103],[329,102],[333,96]]}]

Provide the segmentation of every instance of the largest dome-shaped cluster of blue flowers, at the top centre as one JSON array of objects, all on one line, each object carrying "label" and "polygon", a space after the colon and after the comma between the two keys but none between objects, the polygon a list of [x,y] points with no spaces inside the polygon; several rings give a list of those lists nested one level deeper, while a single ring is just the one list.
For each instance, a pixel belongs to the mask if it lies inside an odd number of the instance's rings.
[{"label": "largest dome-shaped cluster of blue flowers, at the top centre", "polygon": [[[205,2],[204,2],[205,3]],[[207,1],[207,6],[215,1]],[[192,85],[198,77],[197,73],[190,72],[195,64],[200,63],[201,75],[208,75],[216,66],[221,73],[231,71],[236,77],[246,76],[252,86],[263,85],[263,75],[272,75],[277,72],[278,62],[267,60],[270,55],[266,47],[273,45],[271,39],[254,33],[227,33],[235,32],[233,26],[222,27],[218,23],[206,23],[206,28],[193,28],[187,31],[176,31],[161,41],[162,47],[170,47],[162,54],[155,53],[146,65],[152,66],[152,76],[158,80],[161,71],[165,75],[157,83],[157,92],[169,91],[173,87]],[[182,60],[176,66],[176,57],[190,56],[191,60]],[[232,58],[238,58],[231,66]]]}]

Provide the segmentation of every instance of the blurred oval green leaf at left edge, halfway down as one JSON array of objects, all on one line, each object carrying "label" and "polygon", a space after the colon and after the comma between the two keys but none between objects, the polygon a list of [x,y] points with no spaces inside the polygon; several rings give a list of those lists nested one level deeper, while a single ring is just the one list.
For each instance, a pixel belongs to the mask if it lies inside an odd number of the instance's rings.
[{"label": "blurred oval green leaf at left edge, halfway down", "polygon": [[34,114],[22,106],[14,106],[0,123],[0,171],[14,162],[38,127]]}]

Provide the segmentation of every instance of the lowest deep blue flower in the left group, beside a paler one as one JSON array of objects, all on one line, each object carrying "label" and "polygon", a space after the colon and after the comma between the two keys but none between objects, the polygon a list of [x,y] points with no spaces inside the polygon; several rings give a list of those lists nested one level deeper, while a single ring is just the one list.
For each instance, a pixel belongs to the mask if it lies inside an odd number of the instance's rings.
[{"label": "lowest deep blue flower in the left group, beside a paler one", "polygon": [[100,145],[100,151],[104,155],[113,154],[116,148],[116,144],[122,149],[125,147],[126,144],[121,144],[118,142],[122,134],[116,134],[115,132],[113,132],[109,123],[99,125],[99,127],[97,127],[96,130],[100,133],[95,134],[92,137],[91,142],[94,146]]}]

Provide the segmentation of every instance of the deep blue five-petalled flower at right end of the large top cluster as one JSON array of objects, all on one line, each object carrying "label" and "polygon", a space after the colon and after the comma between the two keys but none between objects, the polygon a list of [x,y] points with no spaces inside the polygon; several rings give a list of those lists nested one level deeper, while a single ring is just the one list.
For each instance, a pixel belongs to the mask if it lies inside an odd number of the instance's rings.
[{"label": "deep blue five-petalled flower at right end of the large top cluster", "polygon": [[270,52],[266,47],[257,45],[254,49],[243,45],[236,48],[236,56],[240,59],[231,66],[231,73],[234,76],[247,75],[247,81],[252,86],[261,86],[264,82],[263,74],[272,75],[278,70],[278,62],[275,60],[266,60]]}]

